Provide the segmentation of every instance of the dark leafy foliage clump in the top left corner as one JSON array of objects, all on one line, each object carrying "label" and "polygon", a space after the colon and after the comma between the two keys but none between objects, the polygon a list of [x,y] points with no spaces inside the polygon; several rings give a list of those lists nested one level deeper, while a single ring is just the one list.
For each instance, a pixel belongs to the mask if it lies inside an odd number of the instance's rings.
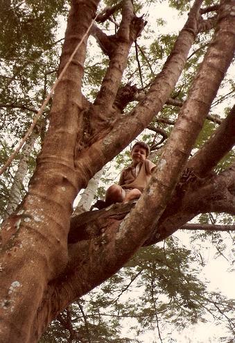
[{"label": "dark leafy foliage clump in the top left corner", "polygon": [[55,38],[58,15],[66,10],[64,0],[59,1],[3,1],[0,16],[1,58],[37,57],[49,49]]}]

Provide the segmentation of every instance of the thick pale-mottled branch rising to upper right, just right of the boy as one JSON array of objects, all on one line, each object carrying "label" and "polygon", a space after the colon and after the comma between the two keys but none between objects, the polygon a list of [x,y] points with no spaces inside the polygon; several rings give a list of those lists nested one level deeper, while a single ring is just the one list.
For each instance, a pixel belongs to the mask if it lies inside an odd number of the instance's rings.
[{"label": "thick pale-mottled branch rising to upper right, just right of the boy", "polygon": [[[226,46],[225,37],[226,42],[228,42],[227,37],[229,37],[229,42],[228,44],[226,44]],[[217,51],[216,56],[214,54],[214,49],[216,49]],[[189,91],[189,97],[185,101],[180,115],[177,118],[177,122],[173,128],[171,137],[168,140],[168,144],[166,144],[162,156],[159,159],[157,168],[153,173],[153,178],[151,178],[150,183],[139,199],[137,206],[143,206],[142,201],[145,201],[145,203],[150,203],[148,193],[150,192],[152,185],[155,191],[157,190],[158,193],[160,193],[162,192],[165,185],[168,185],[169,187],[171,181],[174,182],[174,176],[169,175],[167,172],[168,169],[171,169],[171,171],[173,172],[173,164],[175,168],[178,168],[177,175],[181,175],[181,168],[186,163],[186,158],[188,158],[190,149],[193,147],[195,139],[202,128],[204,119],[206,118],[211,103],[216,96],[216,92],[218,91],[218,87],[223,80],[229,64],[232,62],[234,49],[234,17],[229,17],[228,15],[227,17],[225,16],[220,22],[218,22],[214,41],[211,42],[207,54],[200,66],[198,74],[195,77],[195,81],[191,86],[191,90]],[[213,59],[214,61],[213,66],[211,65],[211,59]],[[211,74],[214,75],[213,82],[211,82]],[[204,87],[207,87],[207,85],[208,92],[207,94],[204,94]],[[185,132],[187,132],[188,135],[184,135]],[[174,156],[174,158],[171,158],[171,156]],[[155,180],[154,178],[156,178],[157,180]],[[161,181],[161,187],[157,183],[159,181]],[[193,201],[193,199],[191,199],[191,201]],[[135,210],[137,209],[137,206],[135,207]],[[148,208],[151,208],[151,206],[148,206]],[[135,210],[133,212],[136,212]],[[154,212],[154,210],[159,213],[161,209],[152,208],[152,213]],[[147,215],[147,213],[145,215]],[[150,215],[151,214],[149,213],[149,216]],[[156,230],[153,231],[151,237],[154,237],[155,235]]]}]

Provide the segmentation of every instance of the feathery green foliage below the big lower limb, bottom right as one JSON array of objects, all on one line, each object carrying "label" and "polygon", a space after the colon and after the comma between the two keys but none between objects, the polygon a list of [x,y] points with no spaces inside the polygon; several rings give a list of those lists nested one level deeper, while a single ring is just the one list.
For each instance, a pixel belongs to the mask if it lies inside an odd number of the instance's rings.
[{"label": "feathery green foliage below the big lower limb, bottom right", "polygon": [[[207,291],[207,284],[200,281],[201,267],[195,267],[194,261],[193,251],[173,237],[162,247],[140,249],[121,271],[79,299],[79,306],[73,303],[71,324],[78,342],[82,342],[79,337],[86,337],[87,342],[143,342],[141,334],[157,326],[162,336],[168,337],[169,321],[182,330],[189,323],[207,322],[208,314],[218,322],[227,317],[231,329],[234,302],[219,292]],[[137,340],[122,337],[127,321],[131,321],[131,332],[136,333]],[[51,335],[53,339],[56,330],[62,335],[55,342],[64,342],[67,331],[58,326],[58,320],[44,337]]]}]

